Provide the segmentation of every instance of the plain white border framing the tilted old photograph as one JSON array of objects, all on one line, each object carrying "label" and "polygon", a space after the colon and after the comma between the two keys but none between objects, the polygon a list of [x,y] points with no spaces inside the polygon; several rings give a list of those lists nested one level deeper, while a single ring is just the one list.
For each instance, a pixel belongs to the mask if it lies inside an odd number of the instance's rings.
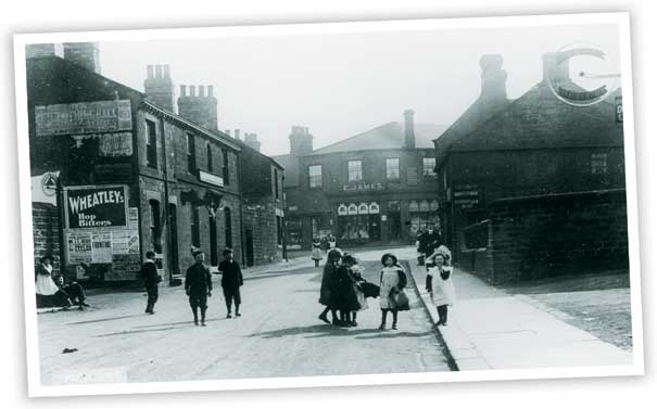
[{"label": "plain white border framing the tilted old photograph", "polygon": [[21,204],[21,234],[23,270],[34,266],[31,193],[29,170],[29,137],[27,118],[27,87],[25,46],[30,43],[76,41],[144,41],[163,39],[258,37],[277,35],[345,34],[407,30],[448,30],[463,28],[501,28],[518,26],[611,24],[618,28],[621,52],[623,92],[623,135],[626,155],[626,192],[628,208],[628,239],[632,311],[632,363],[626,366],[594,366],[571,368],[541,368],[518,370],[485,370],[463,372],[390,373],[334,376],[289,376],[215,381],[148,382],[122,384],[42,385],[40,382],[39,337],[37,311],[34,303],[33,276],[24,273],[25,343],[29,397],[116,395],[163,392],[236,391],[266,388],[296,388],[318,386],[362,386],[386,384],[420,384],[435,382],[540,380],[563,378],[598,378],[643,375],[644,345],[641,301],[641,263],[636,191],[636,159],[634,144],[634,110],[632,92],[632,57],[630,13],[551,14],[504,17],[429,18],[350,23],[299,23],[252,26],[162,28],[131,30],[99,30],[17,34],[14,36],[14,76],[16,93],[16,129],[18,148],[18,191]]}]

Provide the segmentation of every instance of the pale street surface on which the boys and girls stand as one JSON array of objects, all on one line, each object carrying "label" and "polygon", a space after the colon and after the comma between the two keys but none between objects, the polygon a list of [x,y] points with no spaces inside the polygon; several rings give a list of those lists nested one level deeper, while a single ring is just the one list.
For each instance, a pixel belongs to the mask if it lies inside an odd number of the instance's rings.
[{"label": "pale street surface on which the boys and girls stand", "polygon": [[[376,280],[379,264],[364,261]],[[216,280],[216,278],[215,278]],[[448,371],[425,310],[400,314],[399,330],[378,330],[378,301],[339,329],[317,319],[320,269],[260,272],[245,279],[242,317],[226,319],[220,289],[209,327],[194,327],[181,289],[163,289],[154,316],[141,293],[103,294],[87,311],[38,317],[41,383],[151,382],[293,375]],[[64,348],[77,352],[62,354]]]}]

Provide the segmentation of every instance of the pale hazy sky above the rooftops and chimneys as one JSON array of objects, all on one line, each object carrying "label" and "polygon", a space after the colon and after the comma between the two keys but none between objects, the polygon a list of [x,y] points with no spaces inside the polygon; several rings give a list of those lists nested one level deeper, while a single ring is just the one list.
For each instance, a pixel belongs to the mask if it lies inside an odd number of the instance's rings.
[{"label": "pale hazy sky above the rooftops and chimneys", "polygon": [[450,125],[479,95],[481,55],[502,54],[515,99],[541,81],[542,54],[574,42],[599,47],[619,72],[610,25],[104,41],[100,60],[103,75],[141,91],[149,64],[170,65],[176,98],[180,85],[213,85],[219,129],[257,133],[276,155],[294,125],[315,149],[403,122],[407,108]]}]

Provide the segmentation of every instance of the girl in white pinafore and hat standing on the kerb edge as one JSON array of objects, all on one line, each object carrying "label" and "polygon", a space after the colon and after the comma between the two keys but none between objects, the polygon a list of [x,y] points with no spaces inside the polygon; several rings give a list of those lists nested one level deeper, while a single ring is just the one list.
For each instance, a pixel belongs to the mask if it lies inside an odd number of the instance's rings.
[{"label": "girl in white pinafore and hat standing on the kerb edge", "polygon": [[435,252],[430,257],[433,266],[427,271],[426,290],[431,294],[431,302],[438,310],[438,324],[447,324],[447,306],[456,302],[456,292],[452,282],[453,268],[447,266],[448,256]]}]

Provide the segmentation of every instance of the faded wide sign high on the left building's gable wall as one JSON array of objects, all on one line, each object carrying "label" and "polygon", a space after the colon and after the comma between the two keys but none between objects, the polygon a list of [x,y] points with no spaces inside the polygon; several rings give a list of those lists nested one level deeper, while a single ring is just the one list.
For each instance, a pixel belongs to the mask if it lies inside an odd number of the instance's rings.
[{"label": "faded wide sign high on the left building's gable wall", "polygon": [[35,123],[38,137],[131,130],[130,100],[37,105]]}]

